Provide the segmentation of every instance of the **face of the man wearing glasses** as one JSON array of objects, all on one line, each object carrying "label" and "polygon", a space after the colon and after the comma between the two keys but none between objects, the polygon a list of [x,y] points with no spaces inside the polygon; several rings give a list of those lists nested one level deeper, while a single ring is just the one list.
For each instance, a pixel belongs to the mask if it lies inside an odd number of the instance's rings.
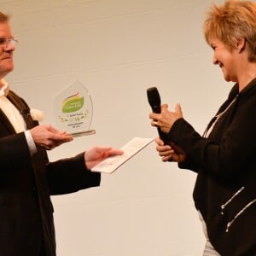
[{"label": "face of the man wearing glasses", "polygon": [[15,45],[11,42],[3,44],[4,40],[9,38],[13,38],[9,23],[0,23],[0,79],[14,69],[13,51]]}]

